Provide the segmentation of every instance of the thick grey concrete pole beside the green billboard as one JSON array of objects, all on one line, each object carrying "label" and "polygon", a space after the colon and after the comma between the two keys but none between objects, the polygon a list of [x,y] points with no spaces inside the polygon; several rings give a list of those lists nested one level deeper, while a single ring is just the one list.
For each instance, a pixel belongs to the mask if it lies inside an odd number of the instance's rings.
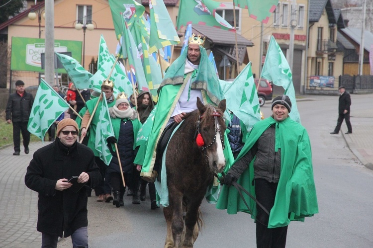
[{"label": "thick grey concrete pole beside the green billboard", "polygon": [[54,1],[45,1],[45,82],[54,84]]}]

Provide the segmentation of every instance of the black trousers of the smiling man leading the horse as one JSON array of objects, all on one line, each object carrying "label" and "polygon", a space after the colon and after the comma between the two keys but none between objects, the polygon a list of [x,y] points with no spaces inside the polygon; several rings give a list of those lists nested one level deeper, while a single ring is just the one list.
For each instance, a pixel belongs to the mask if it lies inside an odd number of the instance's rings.
[{"label": "black trousers of the smiling man leading the horse", "polygon": [[[278,183],[265,179],[255,179],[257,200],[270,212],[275,204]],[[287,226],[268,228],[270,216],[257,204],[257,248],[284,248],[286,245]]]}]

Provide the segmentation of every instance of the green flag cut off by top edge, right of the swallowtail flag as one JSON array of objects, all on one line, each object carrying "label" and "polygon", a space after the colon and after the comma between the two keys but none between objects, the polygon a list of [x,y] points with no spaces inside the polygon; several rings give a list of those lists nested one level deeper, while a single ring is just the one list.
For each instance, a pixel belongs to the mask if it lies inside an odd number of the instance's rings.
[{"label": "green flag cut off by top edge, right of the swallowtail flag", "polygon": [[234,0],[234,5],[247,8],[249,16],[263,23],[268,23],[271,14],[276,9],[279,0]]}]

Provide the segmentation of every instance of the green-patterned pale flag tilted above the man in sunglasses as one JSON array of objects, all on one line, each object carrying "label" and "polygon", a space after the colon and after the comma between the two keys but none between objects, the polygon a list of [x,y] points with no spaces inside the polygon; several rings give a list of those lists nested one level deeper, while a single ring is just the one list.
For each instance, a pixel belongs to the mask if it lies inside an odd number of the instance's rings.
[{"label": "green-patterned pale flag tilted above the man in sunglasses", "polygon": [[69,108],[69,104],[43,79],[35,95],[27,130],[42,141],[52,123]]}]

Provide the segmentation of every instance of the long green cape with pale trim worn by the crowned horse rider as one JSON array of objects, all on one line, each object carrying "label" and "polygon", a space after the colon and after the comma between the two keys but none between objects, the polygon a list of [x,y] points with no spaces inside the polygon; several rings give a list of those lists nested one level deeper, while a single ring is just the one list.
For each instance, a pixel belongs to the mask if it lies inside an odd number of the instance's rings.
[{"label": "long green cape with pale trim worn by the crowned horse rider", "polygon": [[218,105],[219,101],[224,98],[219,80],[213,65],[208,60],[206,50],[202,46],[199,46],[199,48],[201,58],[197,70],[187,75],[184,74],[185,60],[187,58],[187,49],[185,49],[183,54],[170,66],[161,83],[154,122],[149,130],[149,136],[147,136],[149,139],[146,144],[140,147],[135,159],[136,164],[143,165],[142,176],[151,176],[152,174],[156,157],[156,144],[190,77],[190,88],[201,89],[204,103]]}]

